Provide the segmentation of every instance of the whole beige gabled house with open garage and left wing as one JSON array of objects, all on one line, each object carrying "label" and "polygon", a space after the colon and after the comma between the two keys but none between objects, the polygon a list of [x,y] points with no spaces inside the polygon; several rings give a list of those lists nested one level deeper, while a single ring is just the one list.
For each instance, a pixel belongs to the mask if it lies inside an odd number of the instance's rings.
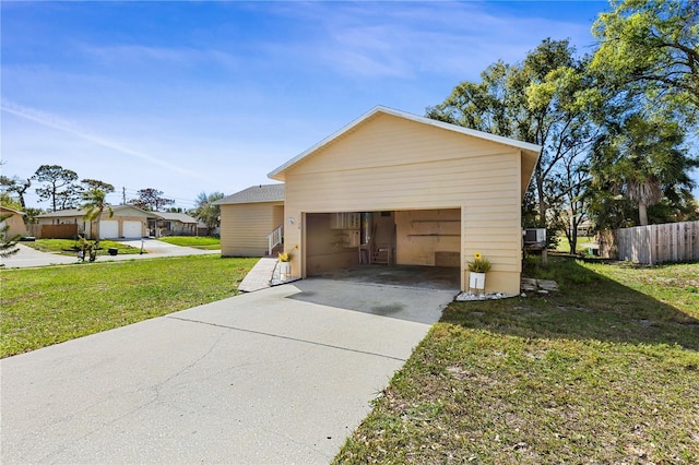
[{"label": "whole beige gabled house with open garage and left wing", "polygon": [[[521,202],[540,153],[534,144],[376,107],[270,172],[285,195],[283,220],[265,205],[266,234],[284,224],[297,277],[362,262],[458,266],[466,290],[467,262],[481,252],[493,265],[486,291],[518,294]],[[232,239],[253,241],[262,208],[251,189],[221,201],[224,254],[264,250],[264,238],[257,249],[236,249]]]}]

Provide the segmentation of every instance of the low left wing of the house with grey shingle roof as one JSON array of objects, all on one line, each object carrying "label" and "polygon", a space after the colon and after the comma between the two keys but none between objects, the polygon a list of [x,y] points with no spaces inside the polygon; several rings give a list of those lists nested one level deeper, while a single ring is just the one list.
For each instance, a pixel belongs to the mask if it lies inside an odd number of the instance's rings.
[{"label": "low left wing of the house with grey shingle roof", "polygon": [[221,205],[223,257],[266,255],[281,241],[284,184],[253,186],[215,204]]}]

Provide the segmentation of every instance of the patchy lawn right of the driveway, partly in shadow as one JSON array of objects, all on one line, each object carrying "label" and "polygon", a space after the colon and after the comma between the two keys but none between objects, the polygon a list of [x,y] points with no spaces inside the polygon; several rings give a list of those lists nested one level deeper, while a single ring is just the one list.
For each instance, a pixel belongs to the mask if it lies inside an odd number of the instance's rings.
[{"label": "patchy lawn right of the driveway, partly in shadow", "polygon": [[335,463],[697,463],[699,264],[549,262],[450,305]]}]

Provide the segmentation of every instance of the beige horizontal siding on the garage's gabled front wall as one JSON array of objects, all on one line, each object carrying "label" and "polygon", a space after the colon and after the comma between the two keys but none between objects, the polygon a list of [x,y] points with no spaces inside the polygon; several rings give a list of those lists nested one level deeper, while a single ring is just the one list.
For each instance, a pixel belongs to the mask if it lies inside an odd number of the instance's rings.
[{"label": "beige horizontal siding on the garage's gabled front wall", "polygon": [[[522,172],[519,150],[379,114],[287,169],[285,216],[457,208],[462,269],[478,251],[493,263],[487,290],[517,294]],[[285,246],[303,249],[303,240],[300,229],[289,229]],[[293,274],[305,276],[300,257]],[[462,288],[466,278],[464,272]]]}]

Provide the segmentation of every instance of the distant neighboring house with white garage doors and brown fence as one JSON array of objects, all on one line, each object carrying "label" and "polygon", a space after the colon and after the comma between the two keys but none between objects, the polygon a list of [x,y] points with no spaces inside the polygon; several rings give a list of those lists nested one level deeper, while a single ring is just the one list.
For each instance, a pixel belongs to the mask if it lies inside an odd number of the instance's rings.
[{"label": "distant neighboring house with white garage doors and brown fence", "polygon": [[[146,212],[132,205],[116,205],[111,207],[114,215],[105,210],[99,220],[100,239],[138,239],[149,236],[149,219],[157,218],[153,212]],[[86,239],[96,239],[95,222],[84,219],[83,210],[59,210],[58,212],[37,215],[40,238],[70,238],[74,235]],[[60,225],[63,225],[62,227]],[[46,227],[45,227],[46,226]],[[51,227],[59,226],[59,227]]]}]

